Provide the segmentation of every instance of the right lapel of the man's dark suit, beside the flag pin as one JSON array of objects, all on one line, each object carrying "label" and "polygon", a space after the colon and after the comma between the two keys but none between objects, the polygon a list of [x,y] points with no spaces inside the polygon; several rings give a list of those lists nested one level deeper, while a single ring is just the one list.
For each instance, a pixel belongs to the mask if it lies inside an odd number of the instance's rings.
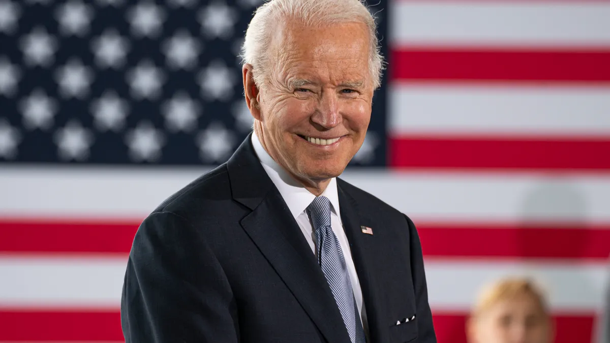
[{"label": "right lapel of the man's dark suit, beside the flag pin", "polygon": [[[383,309],[380,298],[382,287],[376,280],[382,280],[384,275],[377,272],[379,265],[378,255],[383,251],[381,242],[375,237],[375,222],[362,217],[356,201],[345,192],[343,181],[337,179],[339,191],[339,204],[341,206],[341,220],[348,241],[350,242],[351,256],[358,273],[367,313],[368,331],[371,342],[384,342],[387,323],[382,318]],[[373,235],[362,233],[362,226],[373,228]]]}]

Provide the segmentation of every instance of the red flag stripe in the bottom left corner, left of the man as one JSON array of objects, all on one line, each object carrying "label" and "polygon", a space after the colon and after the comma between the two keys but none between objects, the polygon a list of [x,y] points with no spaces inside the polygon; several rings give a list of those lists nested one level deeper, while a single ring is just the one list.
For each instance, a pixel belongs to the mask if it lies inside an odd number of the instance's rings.
[{"label": "red flag stripe in the bottom left corner, left of the man", "polygon": [[121,315],[112,311],[0,309],[0,341],[124,342]]}]

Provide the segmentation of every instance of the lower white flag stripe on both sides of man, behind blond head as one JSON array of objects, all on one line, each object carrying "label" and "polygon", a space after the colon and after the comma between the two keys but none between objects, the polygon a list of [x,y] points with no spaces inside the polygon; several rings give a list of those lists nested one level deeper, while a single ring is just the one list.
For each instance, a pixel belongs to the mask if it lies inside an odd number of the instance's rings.
[{"label": "lower white flag stripe on both sides of man, behind blond head", "polygon": [[[125,259],[0,258],[0,308],[118,308]],[[432,308],[467,309],[489,281],[526,273],[540,278],[554,309],[600,309],[606,287],[604,264],[426,261]],[[448,282],[447,280],[451,280]]]}]

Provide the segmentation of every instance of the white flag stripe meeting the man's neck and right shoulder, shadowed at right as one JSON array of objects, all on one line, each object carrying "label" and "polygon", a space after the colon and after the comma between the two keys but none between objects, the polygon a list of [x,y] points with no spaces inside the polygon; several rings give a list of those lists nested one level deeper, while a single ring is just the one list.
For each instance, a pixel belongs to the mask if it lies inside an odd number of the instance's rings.
[{"label": "white flag stripe meeting the man's neck and right shoulder, shadowed at right", "polygon": [[610,175],[357,172],[346,179],[414,220],[610,221]]}]

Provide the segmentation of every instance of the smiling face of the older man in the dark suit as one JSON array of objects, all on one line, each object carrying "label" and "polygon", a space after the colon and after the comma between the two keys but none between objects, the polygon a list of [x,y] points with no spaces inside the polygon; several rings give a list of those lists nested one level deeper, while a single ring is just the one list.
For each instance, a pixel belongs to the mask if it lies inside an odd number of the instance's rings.
[{"label": "smiling face of the older man in the dark suit", "polygon": [[370,121],[367,28],[282,25],[270,51],[274,68],[255,90],[260,112],[253,112],[265,148],[302,181],[339,176],[364,142]]}]

